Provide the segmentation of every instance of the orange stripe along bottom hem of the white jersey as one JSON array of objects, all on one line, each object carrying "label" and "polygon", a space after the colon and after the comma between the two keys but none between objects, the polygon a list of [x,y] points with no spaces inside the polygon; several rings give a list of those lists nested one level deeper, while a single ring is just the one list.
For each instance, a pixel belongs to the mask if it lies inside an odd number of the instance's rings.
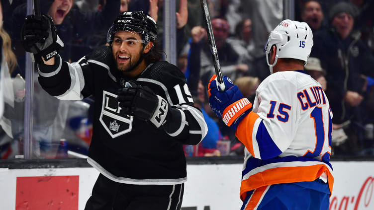
[{"label": "orange stripe along bottom hem of the white jersey", "polygon": [[334,177],[326,165],[318,164],[311,166],[271,168],[254,174],[248,179],[242,181],[240,186],[240,198],[243,200],[247,191],[251,191],[263,186],[280,183],[311,182],[319,178],[323,172],[327,173],[328,184],[332,194]]}]

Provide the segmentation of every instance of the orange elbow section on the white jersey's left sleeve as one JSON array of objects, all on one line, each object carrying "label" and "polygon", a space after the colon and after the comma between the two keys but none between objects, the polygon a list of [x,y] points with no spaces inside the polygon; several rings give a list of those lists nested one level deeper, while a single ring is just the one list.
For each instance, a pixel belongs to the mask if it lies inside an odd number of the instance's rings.
[{"label": "orange elbow section on the white jersey's left sleeve", "polygon": [[252,156],[255,156],[253,152],[252,132],[257,118],[259,118],[258,114],[250,112],[246,117],[244,117],[242,122],[240,122],[235,133],[235,136],[245,145]]}]

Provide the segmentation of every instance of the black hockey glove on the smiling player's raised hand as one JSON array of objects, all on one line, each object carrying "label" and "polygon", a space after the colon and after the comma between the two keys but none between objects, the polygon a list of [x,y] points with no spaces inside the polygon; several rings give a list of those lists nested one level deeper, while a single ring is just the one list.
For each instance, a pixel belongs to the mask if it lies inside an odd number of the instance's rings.
[{"label": "black hockey glove on the smiling player's raised hand", "polygon": [[64,43],[57,35],[52,17],[43,14],[27,15],[21,31],[21,42],[25,51],[33,53],[36,63],[48,61],[59,53]]}]

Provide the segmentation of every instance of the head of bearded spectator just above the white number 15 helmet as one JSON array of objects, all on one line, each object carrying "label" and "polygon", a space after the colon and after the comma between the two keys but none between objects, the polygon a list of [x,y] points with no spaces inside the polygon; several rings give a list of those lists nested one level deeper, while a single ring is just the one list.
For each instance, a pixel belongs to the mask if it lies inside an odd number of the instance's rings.
[{"label": "head of bearded spectator just above the white number 15 helmet", "polygon": [[305,2],[301,14],[302,21],[308,23],[313,33],[326,29],[321,4],[317,0]]}]

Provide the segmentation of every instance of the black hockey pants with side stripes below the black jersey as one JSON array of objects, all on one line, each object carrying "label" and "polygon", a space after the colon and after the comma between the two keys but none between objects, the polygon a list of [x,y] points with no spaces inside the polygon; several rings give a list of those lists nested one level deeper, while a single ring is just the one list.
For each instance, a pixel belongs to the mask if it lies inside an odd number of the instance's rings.
[{"label": "black hockey pants with side stripes below the black jersey", "polygon": [[99,174],[85,210],[181,210],[184,184],[130,185]]}]

